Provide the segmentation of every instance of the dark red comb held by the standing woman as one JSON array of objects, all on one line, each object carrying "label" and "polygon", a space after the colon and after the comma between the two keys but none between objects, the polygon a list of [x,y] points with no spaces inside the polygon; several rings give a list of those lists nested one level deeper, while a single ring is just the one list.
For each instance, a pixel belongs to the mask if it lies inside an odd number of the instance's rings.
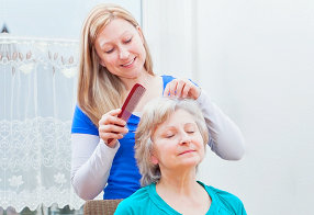
[{"label": "dark red comb held by the standing woman", "polygon": [[[143,86],[135,83],[125,99],[117,117],[127,122],[145,91],[146,89]],[[108,143],[111,143],[112,140],[113,139],[108,139]]]}]

